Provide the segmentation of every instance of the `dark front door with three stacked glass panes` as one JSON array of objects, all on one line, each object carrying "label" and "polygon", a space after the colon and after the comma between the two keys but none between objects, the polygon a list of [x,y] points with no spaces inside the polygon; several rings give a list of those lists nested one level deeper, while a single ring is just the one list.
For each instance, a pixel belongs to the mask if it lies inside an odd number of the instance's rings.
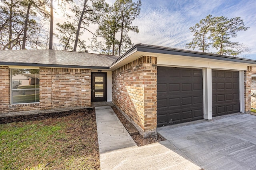
[{"label": "dark front door with three stacked glass panes", "polygon": [[92,72],[92,102],[106,102],[106,72]]}]

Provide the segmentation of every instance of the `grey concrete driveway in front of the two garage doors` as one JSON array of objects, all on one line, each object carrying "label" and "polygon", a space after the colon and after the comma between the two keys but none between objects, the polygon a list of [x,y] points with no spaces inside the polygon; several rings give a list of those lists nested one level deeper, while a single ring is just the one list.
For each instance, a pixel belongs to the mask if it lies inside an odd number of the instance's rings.
[{"label": "grey concrete driveway in front of the two garage doors", "polygon": [[205,170],[256,169],[256,116],[236,113],[157,128]]}]

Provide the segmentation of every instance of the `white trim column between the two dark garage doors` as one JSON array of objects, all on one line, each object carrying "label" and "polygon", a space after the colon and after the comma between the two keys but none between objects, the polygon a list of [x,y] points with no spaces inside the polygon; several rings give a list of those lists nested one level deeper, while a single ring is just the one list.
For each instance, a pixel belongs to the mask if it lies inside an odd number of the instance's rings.
[{"label": "white trim column between the two dark garage doors", "polygon": [[212,119],[212,68],[203,69],[204,119]]}]

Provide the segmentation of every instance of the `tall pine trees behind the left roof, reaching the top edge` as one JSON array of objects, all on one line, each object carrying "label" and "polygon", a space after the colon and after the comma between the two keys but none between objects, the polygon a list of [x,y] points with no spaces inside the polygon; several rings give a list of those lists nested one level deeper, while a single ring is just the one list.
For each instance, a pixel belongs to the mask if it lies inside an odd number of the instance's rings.
[{"label": "tall pine trees behind the left roof, reaching the top edge", "polygon": [[[64,23],[53,25],[53,11],[56,10],[53,3],[58,3],[62,10],[59,15],[67,19]],[[0,49],[59,48],[83,52],[91,49],[120,55],[132,47],[128,32],[138,33],[138,27],[132,26],[132,21],[140,14],[140,0],[116,0],[113,5],[104,0],[80,0],[80,4],[81,7],[77,6],[74,0],[2,0]],[[67,7],[72,14],[67,12]],[[50,29],[46,26],[49,18]],[[96,31],[93,29],[95,25],[98,27]],[[91,37],[87,43],[83,34]],[[58,45],[52,44],[53,35],[59,39]]]}]

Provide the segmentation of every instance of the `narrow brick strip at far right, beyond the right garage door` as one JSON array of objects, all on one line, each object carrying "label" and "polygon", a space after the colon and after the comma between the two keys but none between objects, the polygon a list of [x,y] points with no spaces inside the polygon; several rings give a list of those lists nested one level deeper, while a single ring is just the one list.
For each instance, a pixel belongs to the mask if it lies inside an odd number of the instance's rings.
[{"label": "narrow brick strip at far right, beyond the right garage door", "polygon": [[244,72],[244,111],[250,113],[251,111],[251,86],[252,86],[252,67],[247,66]]}]

